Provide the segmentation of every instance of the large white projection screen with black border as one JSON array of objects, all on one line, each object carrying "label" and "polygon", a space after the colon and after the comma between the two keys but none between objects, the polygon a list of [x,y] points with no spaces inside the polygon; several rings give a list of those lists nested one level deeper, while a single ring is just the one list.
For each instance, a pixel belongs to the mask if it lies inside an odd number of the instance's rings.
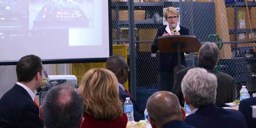
[{"label": "large white projection screen with black border", "polygon": [[0,65],[105,61],[111,26],[111,0],[0,0]]}]

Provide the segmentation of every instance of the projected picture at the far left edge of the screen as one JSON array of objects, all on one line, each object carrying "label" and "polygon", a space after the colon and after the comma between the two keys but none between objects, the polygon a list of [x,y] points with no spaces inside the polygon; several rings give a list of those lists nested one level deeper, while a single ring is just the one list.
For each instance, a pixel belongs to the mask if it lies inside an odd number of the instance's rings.
[{"label": "projected picture at the far left edge of the screen", "polygon": [[28,0],[0,0],[0,42],[28,33],[28,7]]}]

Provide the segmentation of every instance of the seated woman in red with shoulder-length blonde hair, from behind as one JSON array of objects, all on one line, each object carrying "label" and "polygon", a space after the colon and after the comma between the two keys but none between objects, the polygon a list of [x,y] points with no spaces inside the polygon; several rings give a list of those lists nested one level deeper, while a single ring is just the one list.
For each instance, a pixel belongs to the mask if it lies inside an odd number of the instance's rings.
[{"label": "seated woman in red with shoulder-length blonde hair, from behind", "polygon": [[126,128],[127,116],[119,100],[116,76],[104,68],[87,71],[78,91],[84,101],[82,128]]}]

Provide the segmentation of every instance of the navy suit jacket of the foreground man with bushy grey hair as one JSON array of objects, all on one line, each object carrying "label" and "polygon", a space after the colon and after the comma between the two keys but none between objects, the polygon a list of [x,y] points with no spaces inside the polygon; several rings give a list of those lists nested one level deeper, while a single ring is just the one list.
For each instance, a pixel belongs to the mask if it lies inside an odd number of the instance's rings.
[{"label": "navy suit jacket of the foreground man with bushy grey hair", "polygon": [[185,122],[196,128],[248,128],[241,112],[218,108],[214,104],[199,108],[188,115]]}]

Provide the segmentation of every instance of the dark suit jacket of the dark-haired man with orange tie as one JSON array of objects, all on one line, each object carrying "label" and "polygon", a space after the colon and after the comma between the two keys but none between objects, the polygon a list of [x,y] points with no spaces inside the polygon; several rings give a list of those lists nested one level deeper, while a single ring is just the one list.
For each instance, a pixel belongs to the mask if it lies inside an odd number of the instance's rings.
[{"label": "dark suit jacket of the dark-haired man with orange tie", "polygon": [[44,128],[38,106],[18,84],[0,99],[0,128]]}]

